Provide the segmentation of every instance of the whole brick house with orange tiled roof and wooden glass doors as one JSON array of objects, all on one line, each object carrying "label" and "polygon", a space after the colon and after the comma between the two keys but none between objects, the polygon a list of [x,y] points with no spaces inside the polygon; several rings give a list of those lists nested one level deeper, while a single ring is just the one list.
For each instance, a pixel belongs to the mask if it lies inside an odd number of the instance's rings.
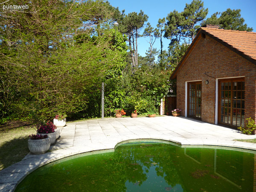
[{"label": "whole brick house with orange tiled roof and wooden glass doors", "polygon": [[181,116],[244,126],[256,119],[256,33],[201,27],[171,79]]}]

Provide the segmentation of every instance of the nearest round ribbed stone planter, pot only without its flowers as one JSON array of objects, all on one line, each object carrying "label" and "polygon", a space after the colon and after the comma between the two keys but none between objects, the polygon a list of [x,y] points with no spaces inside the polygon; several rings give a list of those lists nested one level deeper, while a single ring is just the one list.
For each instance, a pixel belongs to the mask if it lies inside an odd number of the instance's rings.
[{"label": "nearest round ribbed stone planter, pot only without its flowers", "polygon": [[49,137],[41,140],[28,140],[29,151],[34,154],[42,154],[49,150],[51,140]]}]

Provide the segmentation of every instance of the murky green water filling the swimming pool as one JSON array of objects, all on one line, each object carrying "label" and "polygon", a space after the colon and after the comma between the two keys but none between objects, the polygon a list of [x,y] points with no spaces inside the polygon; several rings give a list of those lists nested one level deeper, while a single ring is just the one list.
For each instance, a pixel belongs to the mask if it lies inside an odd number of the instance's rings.
[{"label": "murky green water filling the swimming pool", "polygon": [[16,192],[253,192],[256,155],[221,148],[137,142],[58,160]]}]

